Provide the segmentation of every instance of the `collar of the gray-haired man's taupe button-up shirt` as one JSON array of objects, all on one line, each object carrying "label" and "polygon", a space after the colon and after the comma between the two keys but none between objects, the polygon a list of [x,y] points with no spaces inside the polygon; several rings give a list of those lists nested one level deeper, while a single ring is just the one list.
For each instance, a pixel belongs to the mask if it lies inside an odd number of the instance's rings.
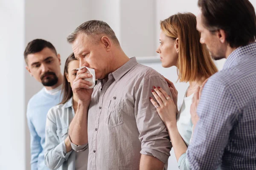
[{"label": "collar of the gray-haired man's taupe button-up shirt", "polygon": [[[116,80],[116,82],[121,79],[121,77],[127,73],[131,68],[133,68],[135,65],[137,65],[137,59],[135,57],[130,58],[128,62],[126,62],[124,65],[122,65],[120,68],[118,68],[113,73],[110,73],[108,75],[108,79],[113,76],[113,78]],[[107,81],[107,79],[98,79],[97,84],[103,82],[103,84]]]}]

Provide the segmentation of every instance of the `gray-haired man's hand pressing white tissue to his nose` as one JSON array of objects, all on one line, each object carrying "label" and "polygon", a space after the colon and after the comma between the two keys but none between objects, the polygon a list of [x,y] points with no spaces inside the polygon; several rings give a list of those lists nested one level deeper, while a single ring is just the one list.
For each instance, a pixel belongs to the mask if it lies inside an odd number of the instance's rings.
[{"label": "gray-haired man's hand pressing white tissue to his nose", "polygon": [[86,68],[77,71],[76,79],[73,82],[72,90],[82,103],[89,105],[93,93],[93,88],[89,87],[93,84],[89,81],[84,80],[85,78],[92,77],[92,74],[86,73],[86,71]]}]

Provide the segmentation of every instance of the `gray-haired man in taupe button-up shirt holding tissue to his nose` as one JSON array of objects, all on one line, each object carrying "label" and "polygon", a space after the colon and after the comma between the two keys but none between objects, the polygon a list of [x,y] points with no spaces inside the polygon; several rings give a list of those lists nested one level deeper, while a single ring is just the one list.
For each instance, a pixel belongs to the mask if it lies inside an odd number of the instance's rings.
[{"label": "gray-haired man in taupe button-up shirt holding tissue to his nose", "polygon": [[[149,98],[155,85],[171,95],[162,75],[129,58],[107,23],[90,20],[67,37],[86,68],[77,72],[78,109],[69,127],[73,150],[89,145],[89,170],[167,169],[172,144]],[[91,78],[90,81],[85,78]],[[88,123],[88,124],[87,124]]]}]

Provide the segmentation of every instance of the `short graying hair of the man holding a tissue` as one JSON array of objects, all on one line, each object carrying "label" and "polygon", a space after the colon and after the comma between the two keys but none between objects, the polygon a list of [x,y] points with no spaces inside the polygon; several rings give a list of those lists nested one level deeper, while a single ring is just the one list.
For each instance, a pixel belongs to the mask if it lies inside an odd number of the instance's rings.
[{"label": "short graying hair of the man holding a tissue", "polygon": [[75,29],[75,31],[67,36],[67,42],[73,43],[79,33],[84,33],[88,36],[104,34],[106,36],[109,36],[109,38],[113,40],[117,45],[120,45],[113,29],[103,21],[90,20],[82,23],[79,27]]}]

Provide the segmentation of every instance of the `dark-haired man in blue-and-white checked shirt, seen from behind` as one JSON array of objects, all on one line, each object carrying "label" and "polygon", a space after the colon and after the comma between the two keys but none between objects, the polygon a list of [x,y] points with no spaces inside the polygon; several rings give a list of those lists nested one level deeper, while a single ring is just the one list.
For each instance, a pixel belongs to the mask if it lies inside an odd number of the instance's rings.
[{"label": "dark-haired man in blue-and-white checked shirt, seen from behind", "polygon": [[199,120],[186,161],[193,170],[256,170],[255,10],[248,0],[198,0],[198,6],[201,43],[213,59],[227,61],[194,95],[191,114]]}]

